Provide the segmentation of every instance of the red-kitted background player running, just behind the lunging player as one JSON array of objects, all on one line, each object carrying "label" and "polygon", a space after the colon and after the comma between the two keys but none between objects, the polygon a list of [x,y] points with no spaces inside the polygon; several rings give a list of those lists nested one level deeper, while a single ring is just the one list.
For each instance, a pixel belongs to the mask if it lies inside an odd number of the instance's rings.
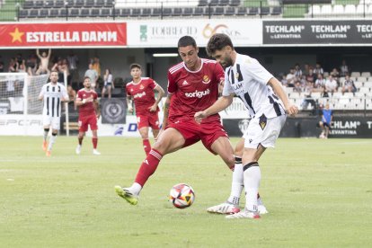
[{"label": "red-kitted background player running, just behind the lunging player", "polygon": [[[148,140],[148,128],[153,129],[156,138],[159,134],[159,107],[157,106],[164,96],[164,90],[150,77],[141,77],[142,69],[138,64],[130,65],[132,81],[126,85],[128,111],[133,113],[132,100],[136,107],[137,126],[142,137],[146,155],[151,151]],[[155,98],[155,93],[157,97]]]}]

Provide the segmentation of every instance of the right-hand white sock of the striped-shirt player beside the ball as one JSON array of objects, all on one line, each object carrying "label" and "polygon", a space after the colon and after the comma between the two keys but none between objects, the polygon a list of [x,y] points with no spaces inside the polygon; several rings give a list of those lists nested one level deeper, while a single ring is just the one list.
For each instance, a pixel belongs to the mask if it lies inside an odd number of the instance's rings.
[{"label": "right-hand white sock of the striped-shirt player beside the ball", "polygon": [[257,194],[261,182],[261,170],[257,162],[244,165],[244,189],[246,193],[245,208],[257,211]]}]

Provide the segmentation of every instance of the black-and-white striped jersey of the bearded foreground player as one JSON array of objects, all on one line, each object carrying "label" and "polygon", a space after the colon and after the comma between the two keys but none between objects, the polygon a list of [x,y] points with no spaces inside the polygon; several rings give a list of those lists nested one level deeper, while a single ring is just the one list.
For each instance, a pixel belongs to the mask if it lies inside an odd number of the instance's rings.
[{"label": "black-and-white striped jersey of the bearded foreground player", "polygon": [[251,118],[262,114],[267,118],[283,115],[284,105],[268,85],[272,77],[257,59],[236,54],[235,65],[226,68],[222,94],[235,93],[244,102]]}]

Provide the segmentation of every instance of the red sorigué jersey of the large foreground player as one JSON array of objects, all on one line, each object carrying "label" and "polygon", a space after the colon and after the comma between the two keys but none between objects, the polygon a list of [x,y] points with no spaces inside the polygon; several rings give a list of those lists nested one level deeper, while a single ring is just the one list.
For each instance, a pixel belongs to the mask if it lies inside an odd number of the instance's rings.
[{"label": "red sorigu\u00e9 jersey of the large foreground player", "polygon": [[[224,78],[224,69],[215,60],[201,58],[198,71],[190,71],[183,62],[172,66],[168,71],[168,93],[173,94],[169,120],[194,120],[197,111],[217,101],[218,85]],[[218,114],[208,118],[217,119]]]}]

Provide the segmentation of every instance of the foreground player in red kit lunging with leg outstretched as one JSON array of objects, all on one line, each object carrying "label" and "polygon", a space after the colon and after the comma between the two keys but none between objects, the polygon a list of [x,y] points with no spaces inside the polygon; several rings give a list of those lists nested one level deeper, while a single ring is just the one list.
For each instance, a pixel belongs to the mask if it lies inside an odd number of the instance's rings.
[{"label": "foreground player in red kit lunging with leg outstretched", "polygon": [[117,194],[132,205],[137,204],[139,192],[164,155],[199,140],[211,153],[220,155],[229,168],[235,165],[233,147],[219,115],[211,115],[200,124],[194,120],[195,112],[217,101],[218,87],[224,82],[222,66],[214,60],[199,58],[199,48],[190,36],[178,41],[178,52],[183,61],[168,71],[164,121],[155,146],[141,164],[132,186],[115,186]]}]

